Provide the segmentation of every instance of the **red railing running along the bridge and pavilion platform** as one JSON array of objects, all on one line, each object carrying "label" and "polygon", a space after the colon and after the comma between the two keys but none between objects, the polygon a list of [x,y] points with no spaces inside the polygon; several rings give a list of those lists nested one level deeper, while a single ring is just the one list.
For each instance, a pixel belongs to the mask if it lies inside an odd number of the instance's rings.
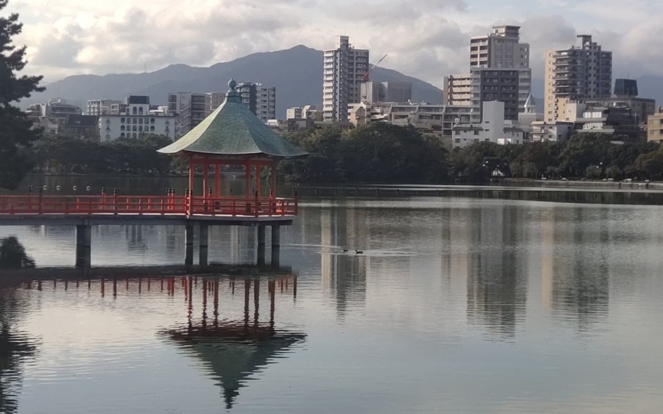
[{"label": "red railing running along the bridge and pavilion platform", "polygon": [[297,197],[0,196],[0,214],[296,216]]}]

